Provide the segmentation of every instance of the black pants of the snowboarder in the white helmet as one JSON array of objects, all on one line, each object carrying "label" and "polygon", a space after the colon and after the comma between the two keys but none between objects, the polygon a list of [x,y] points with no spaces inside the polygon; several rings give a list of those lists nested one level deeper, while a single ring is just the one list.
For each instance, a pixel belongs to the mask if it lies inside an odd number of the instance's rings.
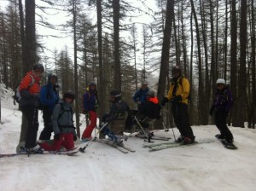
[{"label": "black pants of the snowboarder in the white helmet", "polygon": [[233,135],[229,130],[226,119],[229,113],[226,113],[224,110],[216,110],[215,111],[215,124],[220,131],[220,134],[225,137],[226,140],[232,140]]}]

